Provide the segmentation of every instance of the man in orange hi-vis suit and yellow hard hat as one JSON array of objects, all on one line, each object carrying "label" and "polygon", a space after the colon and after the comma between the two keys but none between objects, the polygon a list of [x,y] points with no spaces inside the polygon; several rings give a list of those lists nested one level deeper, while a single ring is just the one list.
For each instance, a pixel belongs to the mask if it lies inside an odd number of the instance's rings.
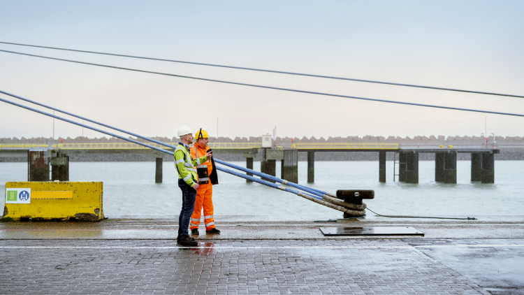
[{"label": "man in orange hi-vis suit and yellow hard hat", "polygon": [[[194,159],[202,157],[202,154],[212,152],[208,146],[209,135],[207,131],[200,129],[196,132],[195,138],[196,143],[189,149]],[[204,208],[205,233],[220,233],[214,227],[213,217],[213,185],[218,185],[217,168],[214,166],[213,157],[203,163],[197,163],[196,173],[198,174],[198,189],[196,189],[195,210],[191,215],[191,224],[189,224],[191,234],[198,235],[202,208]]]}]

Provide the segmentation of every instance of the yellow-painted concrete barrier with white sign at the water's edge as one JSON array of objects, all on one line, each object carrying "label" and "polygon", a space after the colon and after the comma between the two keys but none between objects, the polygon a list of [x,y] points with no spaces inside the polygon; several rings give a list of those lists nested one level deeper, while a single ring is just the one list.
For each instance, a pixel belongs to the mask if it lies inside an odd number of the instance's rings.
[{"label": "yellow-painted concrete barrier with white sign at the water's edge", "polygon": [[6,182],[3,221],[103,220],[102,182]]}]

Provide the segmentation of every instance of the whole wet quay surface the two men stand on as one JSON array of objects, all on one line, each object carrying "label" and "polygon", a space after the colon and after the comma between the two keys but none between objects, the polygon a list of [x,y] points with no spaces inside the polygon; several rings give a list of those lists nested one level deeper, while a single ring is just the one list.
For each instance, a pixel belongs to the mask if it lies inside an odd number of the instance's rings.
[{"label": "whole wet quay surface the two men stand on", "polygon": [[0,294],[524,294],[524,216],[476,218],[215,216],[221,234],[201,226],[191,248],[175,216],[3,222]]}]

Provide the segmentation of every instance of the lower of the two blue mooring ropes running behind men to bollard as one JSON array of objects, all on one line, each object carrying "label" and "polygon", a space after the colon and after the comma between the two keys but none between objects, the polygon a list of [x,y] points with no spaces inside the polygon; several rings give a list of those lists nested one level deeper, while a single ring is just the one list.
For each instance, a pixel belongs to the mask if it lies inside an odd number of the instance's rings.
[{"label": "lower of the two blue mooring ropes running behind men to bollard", "polygon": [[[101,132],[101,133],[103,133],[103,134],[108,134],[108,135],[110,135],[110,136],[114,136],[114,137],[116,137],[116,138],[123,139],[124,141],[129,141],[129,142],[131,142],[131,143],[136,143],[136,144],[138,144],[138,145],[143,145],[143,146],[145,146],[145,147],[149,147],[149,148],[151,148],[151,149],[153,149],[153,150],[157,150],[157,151],[159,151],[159,152],[164,152],[164,153],[166,153],[166,154],[170,154],[170,155],[174,155],[174,154],[175,154],[174,152],[170,152],[170,151],[168,151],[168,150],[163,150],[163,149],[161,149],[161,148],[159,148],[159,147],[154,147],[154,146],[152,146],[152,145],[147,145],[146,143],[140,143],[140,141],[135,141],[135,140],[130,139],[130,138],[125,138],[124,136],[119,136],[119,135],[117,135],[117,134],[112,134],[111,132],[103,131],[103,130],[101,130],[101,129],[97,129],[97,128],[94,128],[94,127],[91,127],[91,126],[87,126],[87,125],[85,125],[85,124],[81,124],[81,123],[79,123],[79,122],[75,122],[75,121],[72,121],[72,120],[67,120],[66,118],[59,117],[59,116],[57,116],[57,115],[52,115],[52,114],[50,114],[50,113],[45,113],[45,112],[43,112],[42,110],[36,110],[36,109],[34,109],[34,108],[29,108],[29,106],[22,106],[21,104],[19,104],[19,103],[15,103],[15,102],[13,102],[13,101],[8,101],[8,100],[6,100],[6,99],[1,99],[1,98],[0,98],[0,101],[3,101],[4,103],[12,104],[13,106],[18,106],[18,107],[20,107],[20,108],[25,108],[25,109],[27,109],[27,110],[32,110],[32,111],[34,111],[34,112],[36,112],[36,113],[40,113],[40,114],[42,114],[42,115],[47,115],[47,116],[49,116],[49,117],[54,117],[55,119],[62,120],[62,121],[64,121],[64,122],[68,122],[68,123],[71,123],[71,124],[75,124],[75,125],[78,125],[78,126],[80,126],[80,127],[85,127],[85,128],[87,128],[87,129],[92,129],[92,130],[94,130],[94,131],[99,131],[99,132]],[[219,170],[219,171],[224,171],[224,172],[226,172],[226,173],[230,173],[230,174],[233,174],[233,175],[239,176],[239,177],[241,177],[241,178],[249,179],[249,180],[252,180],[252,181],[254,181],[254,182],[259,182],[259,183],[261,183],[261,184],[263,184],[263,185],[268,185],[269,187],[273,187],[273,188],[275,188],[275,189],[283,190],[284,192],[291,192],[291,193],[296,194],[296,195],[298,195],[298,196],[302,196],[302,197],[305,198],[305,199],[310,199],[310,201],[314,201],[314,200],[316,200],[316,201],[315,201],[316,203],[321,203],[321,204],[324,205],[324,206],[328,206],[328,202],[322,201],[322,199],[319,198],[318,196],[312,196],[312,195],[310,195],[310,194],[303,194],[303,193],[298,192],[298,191],[295,191],[295,190],[293,190],[293,189],[289,189],[289,188],[286,188],[286,187],[282,187],[282,186],[279,186],[279,185],[275,185],[275,184],[273,184],[273,183],[271,183],[271,182],[268,182],[268,181],[265,181],[265,180],[261,180],[261,179],[258,179],[258,178],[254,178],[254,177],[249,176],[249,175],[244,175],[244,174],[241,174],[241,173],[236,173],[236,172],[231,171],[231,170],[228,170],[228,169],[226,169],[226,168],[221,168],[221,167],[219,167],[219,166],[217,166],[217,170]],[[326,204],[324,204],[324,203],[326,203]],[[346,208],[342,208],[342,207],[340,207],[340,206],[335,206],[335,205],[330,204],[330,203],[329,203],[329,206],[328,206],[328,207],[330,207],[330,208],[334,208],[334,209],[336,209],[336,210],[340,210],[340,211],[342,211],[342,212],[347,211]],[[340,208],[338,208],[338,207],[340,207]]]}]

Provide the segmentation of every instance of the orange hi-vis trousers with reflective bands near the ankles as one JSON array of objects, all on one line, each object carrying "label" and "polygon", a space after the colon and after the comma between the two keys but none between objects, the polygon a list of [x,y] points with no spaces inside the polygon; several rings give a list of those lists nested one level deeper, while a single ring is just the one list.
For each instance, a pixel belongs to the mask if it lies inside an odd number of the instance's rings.
[{"label": "orange hi-vis trousers with reflective bands near the ankles", "polygon": [[196,190],[195,210],[193,211],[193,215],[191,215],[191,224],[189,224],[191,230],[198,229],[200,225],[202,207],[204,208],[205,230],[209,231],[214,229],[212,194],[213,185],[211,183],[198,186]]}]

